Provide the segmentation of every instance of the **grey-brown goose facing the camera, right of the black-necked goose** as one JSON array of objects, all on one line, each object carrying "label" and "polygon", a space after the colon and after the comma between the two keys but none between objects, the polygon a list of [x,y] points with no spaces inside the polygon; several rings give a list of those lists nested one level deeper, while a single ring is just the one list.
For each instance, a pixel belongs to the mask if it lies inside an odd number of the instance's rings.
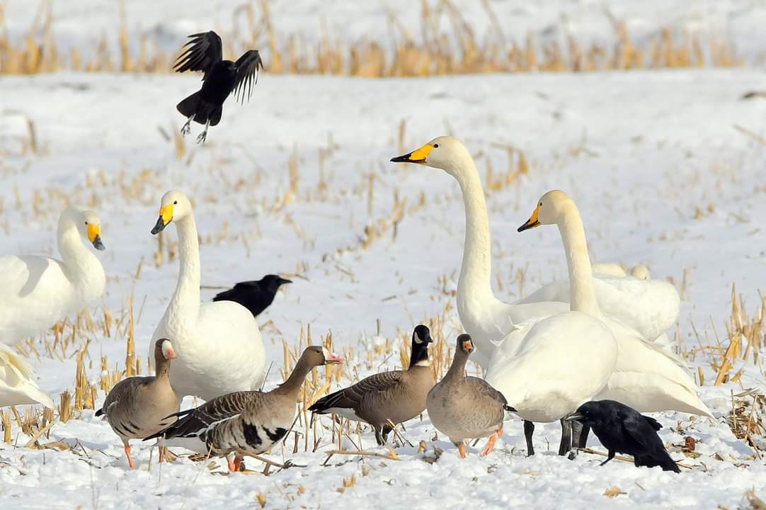
[{"label": "grey-brown goose facing the camera, right of the black-necked goose", "polygon": [[491,452],[502,436],[505,411],[516,411],[508,406],[506,397],[489,386],[486,380],[466,377],[466,361],[471,352],[473,344],[470,335],[459,335],[450,370],[431,388],[426,400],[431,423],[450,438],[463,459],[466,458],[465,439],[489,436],[482,455]]}]

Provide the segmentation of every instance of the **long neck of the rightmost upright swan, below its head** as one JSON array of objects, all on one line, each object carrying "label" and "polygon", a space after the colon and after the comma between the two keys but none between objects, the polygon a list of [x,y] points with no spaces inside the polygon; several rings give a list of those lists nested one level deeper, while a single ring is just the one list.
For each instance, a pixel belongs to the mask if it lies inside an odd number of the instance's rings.
[{"label": "long neck of the rightmost upright swan, below its head", "polygon": [[588,241],[582,225],[580,212],[574,203],[564,206],[558,219],[558,232],[564,242],[564,252],[569,268],[569,303],[573,311],[581,311],[594,317],[601,317],[596,291],[593,287],[593,268],[588,256]]}]

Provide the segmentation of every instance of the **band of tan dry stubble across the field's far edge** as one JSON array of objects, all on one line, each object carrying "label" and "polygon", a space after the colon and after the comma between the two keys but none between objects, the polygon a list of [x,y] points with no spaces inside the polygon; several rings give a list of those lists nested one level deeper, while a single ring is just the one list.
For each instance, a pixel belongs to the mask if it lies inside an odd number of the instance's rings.
[{"label": "band of tan dry stubble across the field's far edge", "polygon": [[[51,8],[41,3],[26,35],[0,35],[0,74],[38,74],[57,71],[168,73],[175,54],[150,45],[146,35],[128,31],[120,8],[116,41],[102,36],[96,48],[59,49],[52,27]],[[702,41],[688,31],[658,28],[653,36],[632,38],[624,21],[607,12],[614,32],[610,44],[580,44],[562,22],[558,41],[538,42],[531,32],[524,41],[509,41],[488,2],[483,2],[490,26],[479,37],[450,0],[421,2],[421,34],[416,41],[391,12],[388,40],[342,41],[326,29],[316,44],[303,35],[281,34],[270,15],[269,2],[242,5],[234,12],[234,30],[225,34],[224,54],[262,48],[267,71],[273,74],[338,74],[357,77],[418,77],[437,74],[496,72],[585,72],[636,68],[732,67],[743,64],[731,41]],[[244,18],[248,27],[239,33]],[[5,18],[0,10],[0,25]],[[136,40],[137,38],[137,40]],[[230,41],[237,41],[232,44]],[[180,47],[180,41],[179,41]],[[132,48],[137,48],[134,50]],[[391,48],[391,49],[388,49]],[[185,148],[175,140],[178,157]]]}]

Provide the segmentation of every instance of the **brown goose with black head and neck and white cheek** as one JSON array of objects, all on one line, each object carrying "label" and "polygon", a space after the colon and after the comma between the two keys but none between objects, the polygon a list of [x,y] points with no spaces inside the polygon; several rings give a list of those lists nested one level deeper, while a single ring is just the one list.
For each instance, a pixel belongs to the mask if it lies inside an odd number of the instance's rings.
[{"label": "brown goose with black head and neck and white cheek", "polygon": [[353,386],[323,396],[310,411],[337,414],[348,420],[363,421],[375,429],[375,440],[384,445],[394,425],[423,413],[426,396],[434,387],[434,372],[428,364],[430,330],[418,324],[412,333],[410,366],[365,377]]}]

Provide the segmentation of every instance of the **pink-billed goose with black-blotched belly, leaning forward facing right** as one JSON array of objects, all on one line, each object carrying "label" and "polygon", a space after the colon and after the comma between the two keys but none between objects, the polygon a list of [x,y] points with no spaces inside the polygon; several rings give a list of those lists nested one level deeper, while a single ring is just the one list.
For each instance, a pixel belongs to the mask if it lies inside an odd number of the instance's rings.
[{"label": "pink-billed goose with black-blotched belly, leaning forward facing right", "polygon": [[293,373],[277,388],[267,393],[239,391],[218,396],[196,409],[175,413],[177,422],[146,439],[165,437],[172,445],[225,456],[229,469],[239,471],[242,456],[267,452],[293,426],[295,403],[306,374],[314,367],[339,363],[342,359],[325,347],[306,347]]}]

